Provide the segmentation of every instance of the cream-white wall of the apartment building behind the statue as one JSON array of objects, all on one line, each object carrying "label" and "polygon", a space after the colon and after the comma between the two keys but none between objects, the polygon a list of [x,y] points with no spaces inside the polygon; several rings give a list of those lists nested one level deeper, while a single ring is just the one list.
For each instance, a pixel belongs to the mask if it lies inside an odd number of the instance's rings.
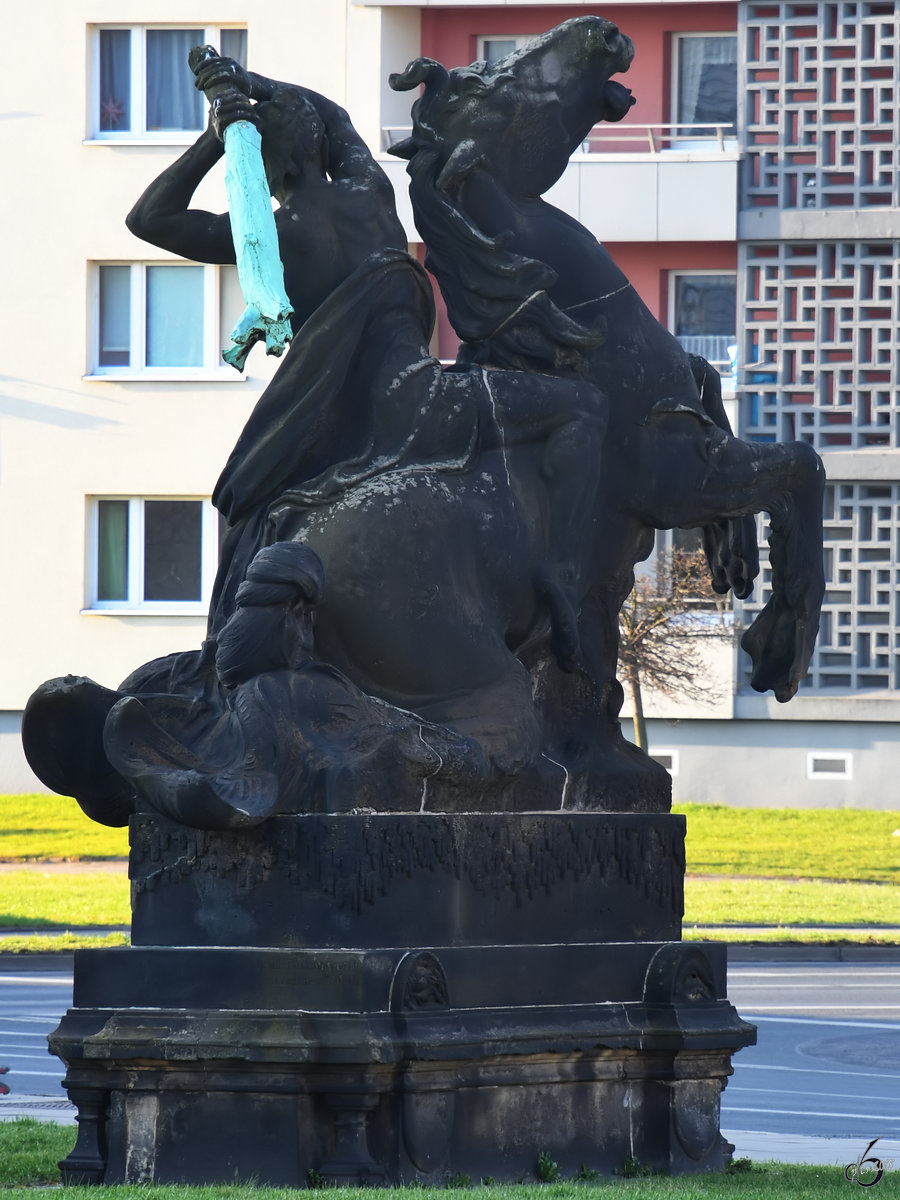
[{"label": "cream-white wall of the apartment building behind the statue", "polygon": [[[91,26],[148,19],[198,25],[246,22],[253,68],[301,80],[344,104],[380,154],[383,128],[408,124],[409,96],[392,92],[386,76],[419,53],[420,12],[428,2],[257,0],[248,7],[242,0],[217,0],[214,6],[182,0],[169,8],[148,7],[146,0],[35,0],[16,10],[0,72],[7,332],[0,372],[0,545],[6,563],[6,586],[0,589],[0,791],[36,786],[24,768],[18,721],[28,695],[43,679],[86,673],[114,686],[137,665],[197,646],[204,634],[204,620],[197,616],[83,612],[85,498],[209,496],[277,365],[257,349],[242,380],[230,368],[217,379],[190,383],[85,378],[89,265],[169,257],[132,238],[124,217],[181,149],[174,142],[116,146],[86,142]],[[595,11],[587,0],[583,7]],[[40,71],[35,47],[41,48]],[[36,85],[38,73],[46,85]],[[404,163],[388,158],[385,167],[413,239]],[[790,214],[790,227],[779,208],[764,210],[764,218],[761,212],[738,215],[736,179],[731,151],[612,155],[602,162],[576,156],[551,199],[590,228],[598,222],[594,232],[607,241],[727,241],[736,236],[738,221],[744,238],[826,236],[814,218],[821,224],[830,214]],[[618,198],[614,205],[610,196]],[[198,202],[223,210],[221,179],[204,185]],[[751,218],[756,224],[749,228]],[[863,218],[881,224],[854,227],[856,235],[895,236],[893,223],[882,228],[884,212],[842,215],[845,222]],[[773,222],[780,224],[775,228]],[[848,227],[847,235],[853,235]],[[850,458],[846,451],[845,456]],[[894,466],[888,470],[884,457],[875,457],[882,474],[887,470],[895,479]],[[858,714],[847,721],[833,709],[816,708],[814,697],[787,707],[757,701],[743,690],[734,697],[733,686],[722,684],[728,670],[733,676],[732,649],[720,646],[713,656],[707,706],[672,707],[659,697],[649,706],[652,746],[679,751],[677,798],[900,806],[893,785],[900,778],[900,724],[890,724],[893,704],[874,700],[870,710],[846,706]],[[738,720],[731,719],[732,710]],[[630,722],[623,725],[628,732]],[[817,748],[845,748],[852,754],[852,779],[808,780],[805,756]]]}]

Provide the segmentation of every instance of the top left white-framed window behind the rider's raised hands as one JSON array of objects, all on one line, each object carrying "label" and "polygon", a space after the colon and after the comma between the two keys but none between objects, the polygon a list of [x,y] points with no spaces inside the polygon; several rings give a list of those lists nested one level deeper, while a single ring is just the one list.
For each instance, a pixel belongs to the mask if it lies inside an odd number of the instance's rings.
[{"label": "top left white-framed window behind the rider's raised hands", "polygon": [[90,130],[101,140],[184,140],[206,124],[187,55],[211,44],[246,66],[246,29],[209,25],[103,25],[94,30]]}]

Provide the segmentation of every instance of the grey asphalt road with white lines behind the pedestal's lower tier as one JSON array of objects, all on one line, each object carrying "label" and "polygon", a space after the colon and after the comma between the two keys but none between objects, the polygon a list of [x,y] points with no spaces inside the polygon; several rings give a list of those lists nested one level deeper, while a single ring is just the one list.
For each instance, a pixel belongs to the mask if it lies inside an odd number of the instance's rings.
[{"label": "grey asphalt road with white lines behind the pedestal's lower tier", "polygon": [[[886,1154],[898,1144],[900,962],[736,964],[728,994],[757,1024],[758,1043],[734,1057],[724,1129],[847,1138],[860,1151],[878,1136]],[[71,995],[66,972],[0,973],[7,1102],[65,1097],[61,1063],[47,1052],[46,1037]]]}]

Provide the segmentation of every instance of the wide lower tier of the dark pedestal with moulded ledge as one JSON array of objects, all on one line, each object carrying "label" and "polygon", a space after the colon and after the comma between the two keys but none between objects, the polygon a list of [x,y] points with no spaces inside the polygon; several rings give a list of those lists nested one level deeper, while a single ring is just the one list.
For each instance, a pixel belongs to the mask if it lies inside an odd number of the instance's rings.
[{"label": "wide lower tier of the dark pedestal with moulded ledge", "polygon": [[50,1039],[79,1106],[70,1182],[721,1169],[754,1038],[722,947],[680,943],[76,956]]}]

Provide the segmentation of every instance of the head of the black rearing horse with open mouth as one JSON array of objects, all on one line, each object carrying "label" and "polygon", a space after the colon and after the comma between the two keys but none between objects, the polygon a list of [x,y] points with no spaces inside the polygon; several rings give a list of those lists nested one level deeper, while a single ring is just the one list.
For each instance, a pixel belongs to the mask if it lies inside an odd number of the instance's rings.
[{"label": "head of the black rearing horse with open mouth", "polygon": [[618,121],[634,103],[612,80],[634,56],[630,38],[602,17],[575,17],[497,62],[448,71],[415,59],[390,85],[425,91],[413,104],[412,137],[391,154],[437,151],[442,190],[490,164],[510,194],[540,196],[565,170],[598,121]]}]

